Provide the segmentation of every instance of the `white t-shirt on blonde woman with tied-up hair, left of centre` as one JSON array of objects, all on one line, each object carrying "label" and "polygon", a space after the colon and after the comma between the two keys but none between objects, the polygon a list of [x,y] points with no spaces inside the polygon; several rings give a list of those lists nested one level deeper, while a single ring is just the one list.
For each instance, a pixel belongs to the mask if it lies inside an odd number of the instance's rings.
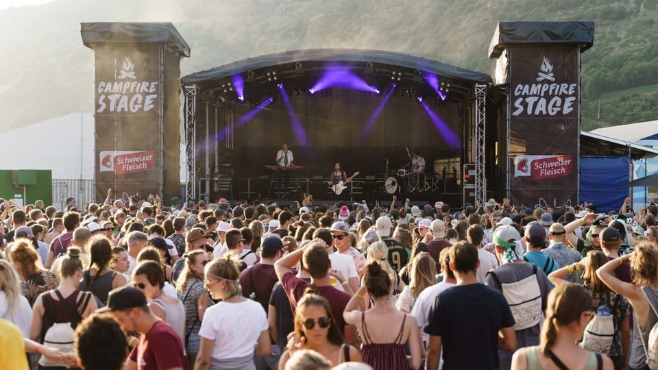
[{"label": "white t-shirt on blonde woman with tied-up hair, left of centre", "polygon": [[212,358],[242,358],[253,356],[254,344],[267,330],[263,306],[249,299],[239,303],[219,302],[208,307],[199,335],[215,341]]}]

